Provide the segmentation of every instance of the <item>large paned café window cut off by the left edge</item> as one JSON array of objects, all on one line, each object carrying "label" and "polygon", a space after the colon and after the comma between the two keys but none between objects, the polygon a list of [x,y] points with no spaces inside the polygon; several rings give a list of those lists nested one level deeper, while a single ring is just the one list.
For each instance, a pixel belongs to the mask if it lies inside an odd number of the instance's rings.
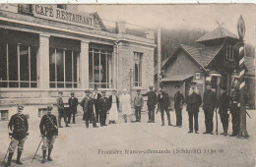
[{"label": "large paned caf\u00e9 window cut off by the left edge", "polygon": [[0,87],[37,87],[37,48],[0,43]]}]

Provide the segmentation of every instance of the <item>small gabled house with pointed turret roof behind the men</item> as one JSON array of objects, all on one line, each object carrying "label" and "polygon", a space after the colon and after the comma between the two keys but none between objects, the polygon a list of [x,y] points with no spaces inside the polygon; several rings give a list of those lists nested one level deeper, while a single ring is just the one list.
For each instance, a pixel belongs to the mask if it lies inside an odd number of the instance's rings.
[{"label": "small gabled house with pointed turret roof behind the men", "polygon": [[173,55],[161,64],[163,78],[171,101],[175,93],[174,85],[181,84],[181,91],[187,95],[192,80],[197,82],[201,93],[205,83],[212,83],[219,94],[220,86],[230,91],[232,81],[237,77],[239,38],[225,28],[216,28],[197,40],[200,46],[181,44]]}]

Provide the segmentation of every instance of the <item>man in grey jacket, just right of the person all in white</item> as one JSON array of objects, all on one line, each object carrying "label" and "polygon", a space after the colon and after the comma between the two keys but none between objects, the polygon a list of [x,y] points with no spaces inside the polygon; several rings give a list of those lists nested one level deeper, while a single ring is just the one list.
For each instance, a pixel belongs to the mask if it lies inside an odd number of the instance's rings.
[{"label": "man in grey jacket, just right of the person all in white", "polygon": [[137,94],[135,95],[133,99],[133,105],[135,109],[135,122],[141,122],[141,114],[142,114],[142,108],[143,108],[143,96],[141,95],[141,90],[137,89]]}]

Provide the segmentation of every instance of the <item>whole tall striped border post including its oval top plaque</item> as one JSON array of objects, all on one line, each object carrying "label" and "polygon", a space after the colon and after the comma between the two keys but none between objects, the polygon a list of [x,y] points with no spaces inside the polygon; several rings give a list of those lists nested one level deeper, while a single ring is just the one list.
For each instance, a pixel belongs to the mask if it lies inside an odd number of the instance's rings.
[{"label": "whole tall striped border post including its oval top plaque", "polygon": [[[245,56],[245,47],[244,47],[244,35],[245,35],[245,24],[243,21],[242,16],[240,16],[238,23],[237,23],[237,30],[240,37],[240,47],[239,47],[239,90],[240,90],[240,131],[238,134],[238,138],[245,138],[249,137],[247,130],[246,130],[246,108],[245,108],[245,65],[244,65],[244,56]],[[243,52],[243,53],[242,53]]]}]

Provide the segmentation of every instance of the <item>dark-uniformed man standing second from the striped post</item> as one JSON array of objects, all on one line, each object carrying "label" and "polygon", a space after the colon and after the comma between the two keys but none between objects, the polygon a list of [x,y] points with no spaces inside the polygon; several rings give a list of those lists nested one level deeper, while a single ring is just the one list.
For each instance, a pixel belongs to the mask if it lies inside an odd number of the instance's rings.
[{"label": "dark-uniformed man standing second from the striped post", "polygon": [[218,103],[219,114],[223,123],[224,133],[221,135],[227,136],[228,118],[227,110],[229,109],[229,96],[226,94],[225,87],[221,87],[221,96]]}]

